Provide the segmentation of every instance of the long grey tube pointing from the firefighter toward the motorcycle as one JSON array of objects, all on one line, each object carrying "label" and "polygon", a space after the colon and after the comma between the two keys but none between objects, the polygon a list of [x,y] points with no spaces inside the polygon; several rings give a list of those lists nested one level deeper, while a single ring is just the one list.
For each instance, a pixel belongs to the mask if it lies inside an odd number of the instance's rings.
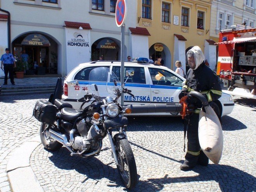
[{"label": "long grey tube pointing from the firefighter toward the motorcycle", "polygon": [[136,113],[160,113],[160,112],[181,112],[182,104],[166,103],[166,104],[151,104],[151,105],[124,105],[123,110],[127,107],[131,108],[131,114]]}]

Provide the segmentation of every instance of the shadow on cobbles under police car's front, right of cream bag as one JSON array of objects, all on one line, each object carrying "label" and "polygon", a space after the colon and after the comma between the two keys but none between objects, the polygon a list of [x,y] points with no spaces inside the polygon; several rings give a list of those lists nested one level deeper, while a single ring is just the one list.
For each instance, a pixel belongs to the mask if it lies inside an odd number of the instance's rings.
[{"label": "shadow on cobbles under police car's front, right of cream bag", "polygon": [[222,120],[221,125],[222,125],[223,131],[234,131],[234,130],[242,130],[247,128],[247,126],[244,125],[244,123],[227,115],[223,116],[221,120]]}]

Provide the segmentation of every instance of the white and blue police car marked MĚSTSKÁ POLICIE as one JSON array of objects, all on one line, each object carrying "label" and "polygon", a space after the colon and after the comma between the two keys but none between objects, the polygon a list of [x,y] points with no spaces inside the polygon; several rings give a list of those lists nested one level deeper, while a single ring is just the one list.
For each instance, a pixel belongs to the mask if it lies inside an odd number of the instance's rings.
[{"label": "white and blue police car marked M\u011aSTSK\u00c1 POLICIE", "polygon": [[[62,100],[70,102],[74,109],[79,109],[80,102],[77,99],[83,97],[86,91],[90,91],[88,85],[89,74],[92,69],[96,67],[108,67],[120,79],[121,62],[120,61],[93,61],[90,63],[83,63],[74,68],[66,77],[64,81],[64,94]],[[178,103],[178,95],[182,90],[185,79],[179,74],[173,72],[164,66],[150,64],[148,62],[125,62],[125,71],[134,70],[134,76],[131,76],[126,81],[125,87],[131,90],[135,98],[128,94],[124,96],[124,104],[154,104],[154,103]],[[80,86],[67,86],[67,82],[78,80]],[[96,82],[97,85],[100,85]],[[105,95],[102,95],[105,94]],[[100,92],[101,97],[108,96]],[[87,105],[90,103],[87,103]],[[85,105],[86,106],[86,105]],[[85,107],[84,106],[84,107]],[[220,99],[214,101],[214,111],[218,116],[230,114],[234,108],[234,101],[231,95],[223,93]],[[132,114],[131,114],[132,115]],[[177,114],[168,113],[145,113],[136,114],[141,116],[168,116]]]}]

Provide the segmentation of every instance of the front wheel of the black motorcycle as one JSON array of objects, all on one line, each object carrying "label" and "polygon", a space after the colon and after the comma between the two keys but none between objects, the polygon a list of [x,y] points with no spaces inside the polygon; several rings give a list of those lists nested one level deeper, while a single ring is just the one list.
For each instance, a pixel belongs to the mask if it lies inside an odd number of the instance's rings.
[{"label": "front wheel of the black motorcycle", "polygon": [[116,141],[118,173],[126,188],[132,189],[137,184],[137,167],[131,146],[127,139]]}]

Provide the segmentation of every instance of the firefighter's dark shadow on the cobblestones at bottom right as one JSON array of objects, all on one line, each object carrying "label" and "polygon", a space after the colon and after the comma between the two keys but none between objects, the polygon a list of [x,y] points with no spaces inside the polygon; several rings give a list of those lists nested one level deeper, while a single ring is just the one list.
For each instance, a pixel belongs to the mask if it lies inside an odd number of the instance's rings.
[{"label": "firefighter's dark shadow on the cobblestones at bottom right", "polygon": [[197,166],[193,169],[193,171],[199,173],[199,175],[182,177],[168,177],[168,175],[165,175],[163,178],[152,178],[145,181],[139,181],[136,187],[137,190],[134,189],[134,191],[149,188],[150,190],[152,189],[152,191],[160,191],[164,189],[164,184],[199,181],[218,182],[222,192],[249,192],[256,189],[256,178],[253,175],[232,166],[209,164],[207,167]]}]

